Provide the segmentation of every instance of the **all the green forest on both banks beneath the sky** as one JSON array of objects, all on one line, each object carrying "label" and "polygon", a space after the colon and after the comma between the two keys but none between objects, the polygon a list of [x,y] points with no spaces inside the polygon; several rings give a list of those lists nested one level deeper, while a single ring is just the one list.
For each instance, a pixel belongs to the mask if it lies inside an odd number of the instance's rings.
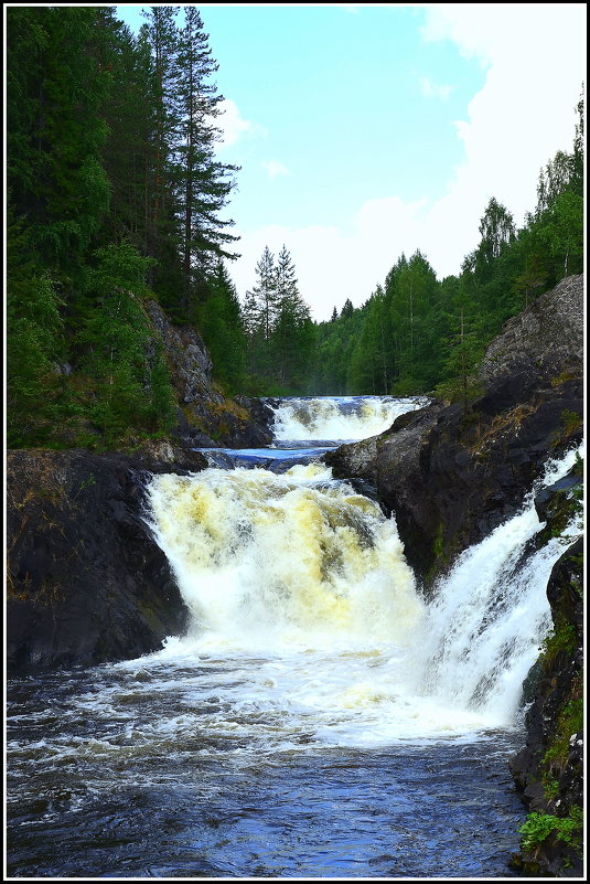
[{"label": "all the green forest on both banks beneath the sky", "polygon": [[135,36],[110,7],[7,10],[9,445],[170,432],[149,298],[199,329],[228,394],[466,396],[504,320],[582,269],[582,103],[522,230],[491,200],[458,276],[401,255],[362,307],[314,323],[286,246],[239,302],[217,65],[199,10],[178,13],[149,8]]}]

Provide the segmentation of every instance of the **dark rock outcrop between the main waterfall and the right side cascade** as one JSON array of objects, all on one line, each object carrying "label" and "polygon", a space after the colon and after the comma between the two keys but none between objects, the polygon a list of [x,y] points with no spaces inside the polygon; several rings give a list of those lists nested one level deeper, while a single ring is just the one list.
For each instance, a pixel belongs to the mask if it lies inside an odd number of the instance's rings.
[{"label": "dark rock outcrop between the main waterfall and the right side cascade", "polygon": [[582,294],[582,277],[570,277],[511,319],[468,408],[433,402],[325,456],[335,476],[376,483],[427,587],[515,514],[549,457],[581,441]]}]

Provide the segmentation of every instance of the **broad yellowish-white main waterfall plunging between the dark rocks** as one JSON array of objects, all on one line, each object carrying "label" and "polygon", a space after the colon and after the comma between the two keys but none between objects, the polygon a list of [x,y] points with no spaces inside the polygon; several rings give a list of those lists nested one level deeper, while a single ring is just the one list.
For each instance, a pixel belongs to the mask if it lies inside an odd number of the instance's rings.
[{"label": "broad yellowish-white main waterfall plunging between the dark rocks", "polygon": [[319,465],[157,477],[155,529],[193,613],[235,647],[407,642],[423,606],[395,522]]}]

